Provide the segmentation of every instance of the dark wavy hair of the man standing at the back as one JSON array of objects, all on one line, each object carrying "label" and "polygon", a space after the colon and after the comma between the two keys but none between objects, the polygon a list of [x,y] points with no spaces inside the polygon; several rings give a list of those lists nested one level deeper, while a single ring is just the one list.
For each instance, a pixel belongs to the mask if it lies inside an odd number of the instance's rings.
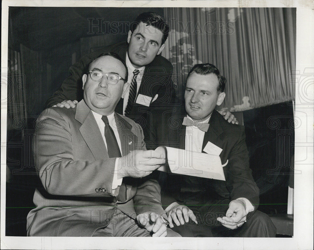
[{"label": "dark wavy hair of the man standing at the back", "polygon": [[169,25],[168,23],[166,23],[164,17],[154,12],[144,12],[142,14],[139,14],[135,21],[130,25],[130,30],[132,33],[138,27],[138,24],[140,22],[145,23],[146,26],[150,25],[156,29],[159,29],[163,33],[160,45],[165,43],[169,34]]}]

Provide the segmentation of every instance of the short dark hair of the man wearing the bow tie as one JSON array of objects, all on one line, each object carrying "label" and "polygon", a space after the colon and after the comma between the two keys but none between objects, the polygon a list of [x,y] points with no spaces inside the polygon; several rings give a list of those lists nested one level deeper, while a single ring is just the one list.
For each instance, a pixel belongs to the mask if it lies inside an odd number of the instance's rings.
[{"label": "short dark hair of the man wearing the bow tie", "polygon": [[217,87],[217,91],[224,92],[226,86],[226,78],[220,74],[219,69],[213,64],[195,64],[193,68],[190,70],[189,74],[187,74],[187,79],[189,78],[190,74],[193,72],[199,75],[208,75],[208,74],[215,74],[218,78],[219,84]]}]

